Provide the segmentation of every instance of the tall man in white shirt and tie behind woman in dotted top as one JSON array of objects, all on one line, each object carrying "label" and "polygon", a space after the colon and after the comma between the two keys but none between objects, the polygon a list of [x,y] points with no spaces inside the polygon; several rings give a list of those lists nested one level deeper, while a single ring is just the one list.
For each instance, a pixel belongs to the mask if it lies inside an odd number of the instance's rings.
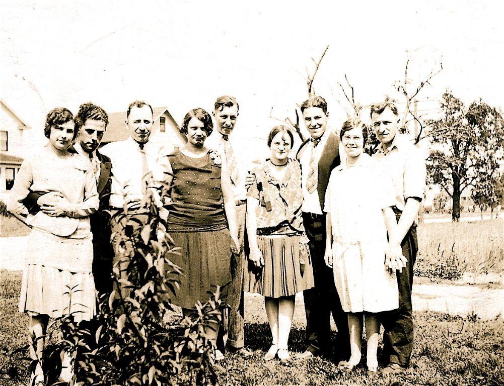
[{"label": "tall man in white shirt and tie behind woman in dotted top", "polygon": [[231,136],[236,119],[238,118],[238,103],[231,96],[217,98],[212,115],[216,128],[207,139],[206,145],[217,150],[229,170],[234,199],[236,202],[236,222],[238,225],[238,241],[240,254],[233,254],[231,259],[231,284],[227,291],[227,303],[230,305],[227,348],[230,352],[242,357],[251,356],[244,348],[243,340],[243,269],[245,264],[244,236],[247,171],[236,138]]}]

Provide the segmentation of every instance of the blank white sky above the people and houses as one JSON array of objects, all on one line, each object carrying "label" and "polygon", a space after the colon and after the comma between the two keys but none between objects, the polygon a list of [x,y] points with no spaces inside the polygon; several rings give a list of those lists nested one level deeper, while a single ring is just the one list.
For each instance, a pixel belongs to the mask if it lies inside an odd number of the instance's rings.
[{"label": "blank white sky above the people and houses", "polygon": [[446,89],[504,107],[502,3],[0,0],[0,98],[32,126],[33,146],[56,106],[115,112],[144,99],[180,122],[224,94],[240,106],[236,135],[264,138],[294,118],[306,68],[329,45],[313,86],[332,127],[350,107],[345,74],[364,105],[401,101],[392,85],[408,57],[411,89],[443,63],[418,96],[422,112],[434,114]]}]

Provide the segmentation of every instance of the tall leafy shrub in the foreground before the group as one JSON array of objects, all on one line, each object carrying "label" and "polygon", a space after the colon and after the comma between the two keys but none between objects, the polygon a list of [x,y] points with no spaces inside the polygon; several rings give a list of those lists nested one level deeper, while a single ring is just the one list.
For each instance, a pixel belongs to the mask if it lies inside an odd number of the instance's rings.
[{"label": "tall leafy shrub in the foreground before the group", "polygon": [[[181,273],[170,261],[176,248],[152,200],[148,207],[145,215],[112,213],[112,239],[121,259],[113,268],[114,289],[99,300],[99,327],[77,325],[68,316],[55,321],[46,334],[60,338],[46,347],[44,363],[57,363],[63,351],[72,353],[81,386],[204,385],[217,380],[214,347],[205,327],[220,320],[224,303],[219,290],[206,304],[197,304],[197,318],[171,317],[170,294]],[[13,358],[27,348],[17,350]],[[28,367],[22,359],[7,372],[21,378]],[[57,374],[57,369],[45,370],[49,378]]]}]

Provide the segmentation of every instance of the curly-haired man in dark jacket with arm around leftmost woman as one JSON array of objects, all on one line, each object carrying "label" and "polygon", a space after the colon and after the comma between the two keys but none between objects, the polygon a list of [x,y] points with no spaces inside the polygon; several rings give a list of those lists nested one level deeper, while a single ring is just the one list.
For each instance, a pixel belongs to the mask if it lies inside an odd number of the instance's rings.
[{"label": "curly-haired man in dark jacket with arm around leftmost woman", "polygon": [[[110,243],[110,215],[106,212],[110,197],[112,174],[110,158],[98,151],[98,146],[108,125],[108,115],[99,106],[84,103],[75,116],[75,129],[79,131],[76,143],[70,152],[80,153],[89,159],[96,176],[96,187],[100,198],[98,210],[89,216],[91,232],[93,233],[93,276],[98,295],[110,293],[112,290],[112,258],[113,250]],[[32,192],[26,199],[31,213],[40,210],[41,205],[50,206],[62,197],[59,192],[41,194]]]}]

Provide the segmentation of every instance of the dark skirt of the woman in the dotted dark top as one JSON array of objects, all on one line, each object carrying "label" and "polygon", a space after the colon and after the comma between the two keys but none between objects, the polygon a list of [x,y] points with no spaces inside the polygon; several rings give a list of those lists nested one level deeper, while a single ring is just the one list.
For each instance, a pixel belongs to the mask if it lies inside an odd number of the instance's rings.
[{"label": "dark skirt of the woman in the dotted dark top", "polygon": [[179,255],[170,254],[172,263],[182,269],[179,288],[169,294],[170,302],[183,308],[205,304],[217,286],[231,281],[231,245],[227,228],[205,232],[170,233]]}]

